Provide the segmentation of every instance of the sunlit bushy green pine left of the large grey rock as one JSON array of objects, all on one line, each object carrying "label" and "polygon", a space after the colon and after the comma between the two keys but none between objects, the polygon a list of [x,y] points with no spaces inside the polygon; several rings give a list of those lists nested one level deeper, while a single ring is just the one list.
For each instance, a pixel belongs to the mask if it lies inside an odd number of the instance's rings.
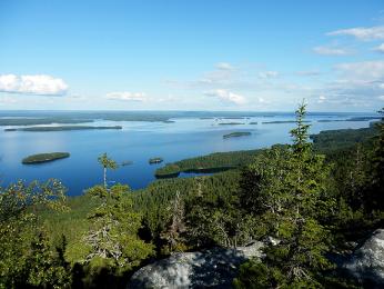
[{"label": "sunlit bushy green pine left of the large grey rock", "polygon": [[85,263],[91,267],[107,267],[127,271],[138,266],[152,253],[152,245],[138,238],[141,216],[132,211],[128,186],[117,185],[108,191],[95,186],[88,195],[101,199],[89,219],[92,227],[84,236],[89,246]]}]

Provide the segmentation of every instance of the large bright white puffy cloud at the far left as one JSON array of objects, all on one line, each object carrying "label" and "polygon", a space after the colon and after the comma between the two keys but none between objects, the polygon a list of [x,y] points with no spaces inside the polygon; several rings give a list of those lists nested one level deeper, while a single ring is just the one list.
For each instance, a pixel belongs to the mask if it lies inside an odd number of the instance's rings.
[{"label": "large bright white puffy cloud at the far left", "polygon": [[62,79],[51,76],[0,74],[0,92],[62,96],[67,90],[68,84]]}]

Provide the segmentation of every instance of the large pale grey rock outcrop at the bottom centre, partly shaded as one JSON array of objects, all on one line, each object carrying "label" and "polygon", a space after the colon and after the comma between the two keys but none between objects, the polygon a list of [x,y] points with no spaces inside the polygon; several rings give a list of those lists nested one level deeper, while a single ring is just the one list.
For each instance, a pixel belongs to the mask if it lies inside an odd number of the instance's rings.
[{"label": "large pale grey rock outcrop at the bottom centre, partly shaded", "polygon": [[128,288],[231,288],[239,266],[261,257],[262,242],[236,249],[180,252],[137,271]]}]

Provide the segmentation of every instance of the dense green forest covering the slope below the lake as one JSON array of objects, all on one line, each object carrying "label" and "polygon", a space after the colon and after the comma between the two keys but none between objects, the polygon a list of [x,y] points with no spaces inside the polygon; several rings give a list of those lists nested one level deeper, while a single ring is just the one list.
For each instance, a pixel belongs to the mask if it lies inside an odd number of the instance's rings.
[{"label": "dense green forest covering the slope below the lake", "polygon": [[[279,240],[243,263],[235,288],[361,288],[332,256],[384,225],[384,118],[371,128],[311,136],[305,104],[292,144],[213,153],[132,191],[104,182],[68,198],[59,180],[0,188],[0,288],[124,288],[140,267],[172,252]],[[384,111],[381,111],[384,113]]]}]

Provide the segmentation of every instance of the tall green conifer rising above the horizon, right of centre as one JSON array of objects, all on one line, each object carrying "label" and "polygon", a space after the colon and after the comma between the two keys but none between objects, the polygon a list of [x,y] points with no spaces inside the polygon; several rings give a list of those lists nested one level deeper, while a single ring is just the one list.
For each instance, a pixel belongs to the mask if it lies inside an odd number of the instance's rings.
[{"label": "tall green conifer rising above the horizon, right of centre", "polygon": [[[335,205],[327,193],[330,167],[324,156],[313,152],[304,117],[302,104],[296,111],[297,127],[291,131],[292,146],[271,149],[250,167],[257,176],[252,191],[256,201],[245,200],[251,205],[246,209],[260,216],[265,235],[276,240],[264,250],[260,268],[266,275],[261,280],[269,282],[267,287],[319,286],[317,273],[331,268],[325,258],[330,233],[321,223]],[[241,276],[238,283],[246,283],[247,276]]]}]

